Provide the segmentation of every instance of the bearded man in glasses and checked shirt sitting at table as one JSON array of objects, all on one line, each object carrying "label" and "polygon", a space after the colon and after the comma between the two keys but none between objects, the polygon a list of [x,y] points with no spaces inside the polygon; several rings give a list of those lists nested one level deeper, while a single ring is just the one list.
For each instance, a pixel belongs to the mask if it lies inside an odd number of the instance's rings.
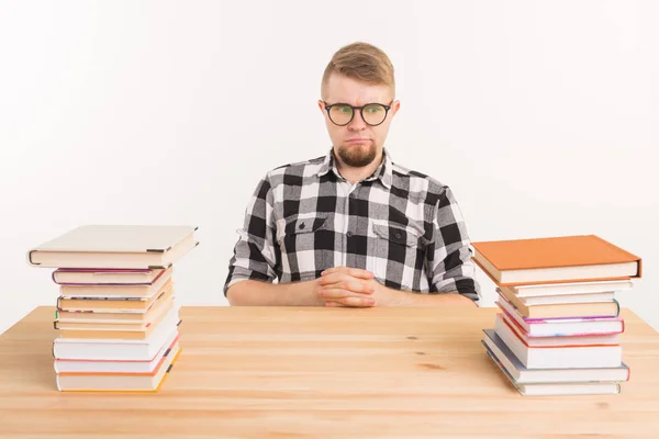
[{"label": "bearded man in glasses and checked shirt sitting at table", "polygon": [[384,148],[400,108],[389,57],[366,43],[340,48],[321,94],[333,148],[261,179],[230,262],[228,302],[473,306],[474,266],[451,191]]}]

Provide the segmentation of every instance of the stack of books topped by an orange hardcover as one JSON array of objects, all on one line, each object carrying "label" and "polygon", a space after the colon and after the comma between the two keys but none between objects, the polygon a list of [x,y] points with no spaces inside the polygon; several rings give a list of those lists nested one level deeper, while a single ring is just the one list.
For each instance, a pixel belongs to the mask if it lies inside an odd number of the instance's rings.
[{"label": "stack of books topped by an orange hardcover", "polygon": [[623,362],[616,292],[640,258],[594,235],[473,243],[500,313],[483,329],[490,358],[523,395],[615,394]]}]

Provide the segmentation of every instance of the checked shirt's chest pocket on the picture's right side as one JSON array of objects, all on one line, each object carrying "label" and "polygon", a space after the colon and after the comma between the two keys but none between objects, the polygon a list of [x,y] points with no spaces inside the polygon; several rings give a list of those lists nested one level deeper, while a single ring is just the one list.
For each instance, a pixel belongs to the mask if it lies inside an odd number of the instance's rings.
[{"label": "checked shirt's chest pocket on the picture's right side", "polygon": [[387,286],[420,291],[428,239],[413,226],[373,224],[373,273]]}]

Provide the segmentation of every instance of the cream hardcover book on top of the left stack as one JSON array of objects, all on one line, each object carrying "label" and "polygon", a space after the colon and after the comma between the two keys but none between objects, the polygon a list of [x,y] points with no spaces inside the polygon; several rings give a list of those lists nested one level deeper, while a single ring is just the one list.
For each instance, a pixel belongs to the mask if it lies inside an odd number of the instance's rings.
[{"label": "cream hardcover book on top of the left stack", "polygon": [[164,269],[199,243],[197,227],[86,225],[27,252],[27,263],[46,268]]}]

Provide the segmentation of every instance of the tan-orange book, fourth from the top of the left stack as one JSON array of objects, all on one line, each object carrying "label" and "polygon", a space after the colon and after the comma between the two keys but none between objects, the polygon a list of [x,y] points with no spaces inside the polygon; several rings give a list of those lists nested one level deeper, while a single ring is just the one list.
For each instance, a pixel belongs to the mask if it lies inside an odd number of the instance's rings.
[{"label": "tan-orange book, fourth from the top of the left stack", "polygon": [[144,297],[91,297],[91,299],[57,299],[59,311],[92,311],[94,313],[146,313],[160,297],[174,294],[174,282],[169,279],[160,290],[149,299]]}]

